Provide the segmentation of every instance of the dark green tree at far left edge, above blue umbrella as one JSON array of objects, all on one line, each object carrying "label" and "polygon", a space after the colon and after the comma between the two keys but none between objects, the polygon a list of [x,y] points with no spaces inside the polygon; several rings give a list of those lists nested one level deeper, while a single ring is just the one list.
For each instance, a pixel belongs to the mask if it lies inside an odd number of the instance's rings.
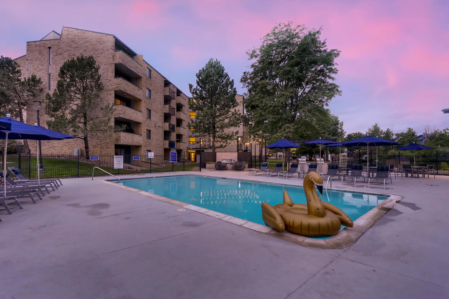
[{"label": "dark green tree at far left edge, above blue umbrella", "polygon": [[[22,78],[22,71],[17,61],[0,56],[0,111],[10,113],[11,117],[25,121],[24,110],[32,99],[38,97],[44,89],[42,80],[36,75]],[[25,152],[30,151],[28,141],[23,140]]]}]

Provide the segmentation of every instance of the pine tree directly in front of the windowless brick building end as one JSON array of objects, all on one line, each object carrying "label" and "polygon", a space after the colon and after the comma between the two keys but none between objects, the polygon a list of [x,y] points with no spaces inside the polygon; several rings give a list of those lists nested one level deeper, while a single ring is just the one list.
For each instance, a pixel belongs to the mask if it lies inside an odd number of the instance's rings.
[{"label": "pine tree directly in front of the windowless brick building end", "polygon": [[86,159],[90,156],[89,138],[112,134],[110,125],[114,108],[101,105],[100,66],[93,56],[77,56],[65,61],[59,69],[59,80],[53,95],[45,95],[45,113],[52,130],[84,140]]}]

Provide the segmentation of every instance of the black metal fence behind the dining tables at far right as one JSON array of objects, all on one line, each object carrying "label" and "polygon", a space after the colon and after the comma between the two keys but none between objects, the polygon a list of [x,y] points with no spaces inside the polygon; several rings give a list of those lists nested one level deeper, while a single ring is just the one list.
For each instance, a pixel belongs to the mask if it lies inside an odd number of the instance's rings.
[{"label": "black metal fence behind the dining tables at far right", "polygon": [[[376,165],[376,155],[370,156],[347,156],[332,157],[332,162],[339,163],[340,165],[346,165],[347,163],[357,163],[366,166],[367,164]],[[377,165],[395,165],[397,167],[400,164],[416,165],[427,164],[433,165],[433,169],[437,174],[449,175],[449,154],[438,153],[435,155],[419,155],[418,153],[413,155],[379,155],[377,156]]]}]

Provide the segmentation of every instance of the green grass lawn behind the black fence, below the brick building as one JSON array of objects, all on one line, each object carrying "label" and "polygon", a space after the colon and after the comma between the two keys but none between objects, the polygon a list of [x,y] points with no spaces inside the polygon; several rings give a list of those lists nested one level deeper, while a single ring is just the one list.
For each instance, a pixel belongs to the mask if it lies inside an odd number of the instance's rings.
[{"label": "green grass lawn behind the black fence, below the brick building", "polygon": [[[92,169],[95,166],[100,167],[101,169],[106,170],[112,174],[123,174],[123,173],[150,173],[150,165],[145,165],[145,167],[141,167],[138,170],[133,169],[114,169],[113,167],[107,167],[103,165],[91,164],[88,162],[82,162],[71,159],[64,158],[48,158],[43,157],[42,164],[44,165],[45,173],[40,173],[40,178],[67,178],[67,177],[77,177],[77,176],[91,176]],[[20,168],[22,175],[25,178],[37,178],[37,169],[36,163],[37,159],[35,157],[31,157],[31,160],[27,156],[21,157],[21,163],[19,164],[18,156],[8,157],[7,159],[7,167],[16,167]],[[126,167],[126,164],[124,165]],[[185,165],[176,165],[159,167],[158,165],[151,165],[151,172],[163,172],[163,171],[188,171],[195,170],[195,167],[198,168],[199,164],[185,164]],[[31,170],[31,173],[30,173]],[[31,174],[31,175],[30,175]],[[99,169],[95,169],[95,175],[105,175],[106,173],[102,172]]]}]

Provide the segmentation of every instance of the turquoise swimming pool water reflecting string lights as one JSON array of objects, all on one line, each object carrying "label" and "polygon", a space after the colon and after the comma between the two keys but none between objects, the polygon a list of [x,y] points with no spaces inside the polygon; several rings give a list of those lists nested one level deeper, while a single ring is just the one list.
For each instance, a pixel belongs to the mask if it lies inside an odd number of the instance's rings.
[{"label": "turquoise swimming pool water reflecting string lights", "polygon": [[[260,204],[282,204],[283,190],[288,191],[294,203],[306,204],[302,187],[236,179],[180,175],[125,179],[119,184],[262,225]],[[383,195],[332,190],[323,191],[320,196],[342,209],[352,221],[387,199]]]}]

